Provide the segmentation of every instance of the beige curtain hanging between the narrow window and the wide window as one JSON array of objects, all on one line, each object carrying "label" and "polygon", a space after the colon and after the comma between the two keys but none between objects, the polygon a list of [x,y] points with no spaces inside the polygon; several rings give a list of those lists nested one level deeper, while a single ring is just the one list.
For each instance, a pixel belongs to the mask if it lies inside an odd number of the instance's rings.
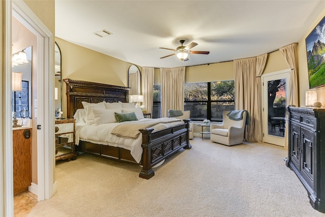
[{"label": "beige curtain hanging between the narrow window and the wide window", "polygon": [[161,117],[169,109],[184,109],[185,67],[160,68]]}]

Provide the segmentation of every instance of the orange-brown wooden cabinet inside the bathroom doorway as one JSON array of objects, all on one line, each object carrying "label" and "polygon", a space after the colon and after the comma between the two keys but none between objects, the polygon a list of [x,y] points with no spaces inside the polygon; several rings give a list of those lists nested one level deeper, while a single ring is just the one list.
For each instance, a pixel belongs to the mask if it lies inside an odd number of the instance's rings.
[{"label": "orange-brown wooden cabinet inside the bathroom doorway", "polygon": [[30,129],[13,130],[14,195],[27,191],[31,184]]}]

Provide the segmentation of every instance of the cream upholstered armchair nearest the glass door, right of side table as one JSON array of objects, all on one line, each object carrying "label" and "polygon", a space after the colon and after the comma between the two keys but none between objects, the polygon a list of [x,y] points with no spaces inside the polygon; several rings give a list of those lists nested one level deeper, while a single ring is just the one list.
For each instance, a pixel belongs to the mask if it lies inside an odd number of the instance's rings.
[{"label": "cream upholstered armchair nearest the glass door, right of side table", "polygon": [[[210,125],[210,139],[213,142],[220,143],[223,145],[237,145],[243,143],[244,132],[246,126],[247,111],[238,110],[235,111],[237,117],[234,120],[231,119],[227,114],[229,111],[222,112],[222,124],[217,125],[211,123]],[[249,117],[248,117],[249,118]],[[248,119],[249,123],[249,119]]]}]

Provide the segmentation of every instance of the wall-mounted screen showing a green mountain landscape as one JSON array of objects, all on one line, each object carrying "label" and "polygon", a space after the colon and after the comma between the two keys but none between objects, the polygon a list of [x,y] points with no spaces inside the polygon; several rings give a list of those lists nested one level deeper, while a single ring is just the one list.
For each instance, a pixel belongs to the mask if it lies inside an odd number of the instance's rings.
[{"label": "wall-mounted screen showing a green mountain landscape", "polygon": [[306,38],[309,88],[325,85],[325,17]]}]

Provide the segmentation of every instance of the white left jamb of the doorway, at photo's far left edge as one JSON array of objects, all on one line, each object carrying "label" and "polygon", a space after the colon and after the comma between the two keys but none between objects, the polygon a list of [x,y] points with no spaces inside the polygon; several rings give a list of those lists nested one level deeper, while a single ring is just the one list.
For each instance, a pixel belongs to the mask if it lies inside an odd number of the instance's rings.
[{"label": "white left jamb of the doorway, at photo's far left edge", "polygon": [[[0,116],[2,147],[0,148],[0,216],[13,216],[14,195],[13,195],[13,139],[12,139],[12,102],[11,102],[11,56],[12,56],[12,37],[11,37],[11,1],[3,1],[3,57],[1,84],[1,102],[3,108]],[[2,80],[3,79],[3,80]]]}]

